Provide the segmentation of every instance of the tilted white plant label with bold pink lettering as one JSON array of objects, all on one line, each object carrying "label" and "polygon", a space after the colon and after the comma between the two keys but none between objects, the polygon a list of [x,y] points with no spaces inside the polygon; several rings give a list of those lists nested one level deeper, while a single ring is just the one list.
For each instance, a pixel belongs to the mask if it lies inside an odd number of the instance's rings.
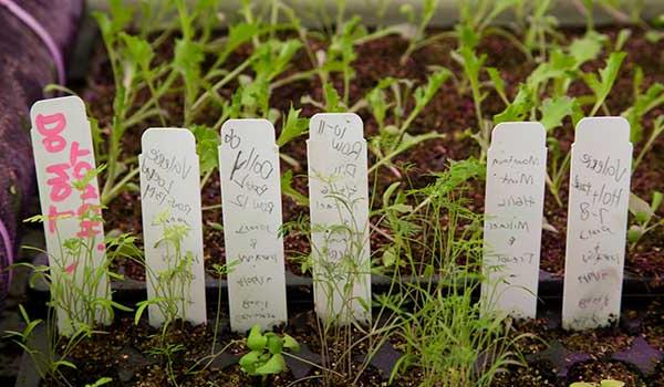
[{"label": "tilted white plant label with bold pink lettering", "polygon": [[[30,118],[58,328],[70,335],[90,305],[83,294],[110,297],[107,276],[96,276],[104,270],[105,251],[90,123],[76,96],[39,101]],[[74,248],[74,240],[82,249]],[[96,322],[110,323],[108,317],[96,311]]]}]

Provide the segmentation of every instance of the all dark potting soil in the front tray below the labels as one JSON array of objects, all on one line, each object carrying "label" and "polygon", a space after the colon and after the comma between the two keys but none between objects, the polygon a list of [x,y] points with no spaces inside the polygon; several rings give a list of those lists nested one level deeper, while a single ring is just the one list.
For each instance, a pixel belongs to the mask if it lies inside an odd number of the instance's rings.
[{"label": "all dark potting soil in the front tray below the labels", "polygon": [[[664,306],[653,302],[646,307],[627,310],[620,327],[588,331],[583,334],[567,335],[559,326],[559,320],[537,320],[515,323],[511,337],[516,339],[516,349],[522,355],[522,364],[509,365],[499,372],[491,386],[508,387],[567,387],[572,381],[599,381],[616,379],[627,387],[664,386],[664,342],[662,324]],[[238,358],[247,352],[242,336],[221,325],[217,343],[216,357],[199,373],[189,373],[191,367],[211,353],[214,330],[210,325],[191,326],[176,323],[166,335],[166,343],[178,347],[173,353],[173,364],[168,367],[166,357],[156,354],[160,344],[160,331],[148,326],[143,320],[135,325],[133,318],[116,318],[104,333],[95,334],[76,347],[68,358],[76,364],[76,369],[62,368],[72,385],[92,383],[102,376],[112,377],[110,386],[164,386],[170,385],[168,372],[180,386],[206,386],[211,381],[216,386],[258,386],[258,381],[246,376]],[[310,363],[322,365],[322,345],[312,312],[295,314],[289,325],[274,330],[288,333],[302,346],[297,356]],[[585,337],[583,341],[582,336]],[[517,339],[517,337],[519,337]],[[357,330],[352,331],[351,343],[366,338]],[[345,347],[342,341],[328,342],[328,359],[339,364],[339,356]],[[397,359],[404,354],[405,346],[398,339],[381,348],[356,383],[339,378],[334,386],[384,386],[385,380]],[[164,346],[164,345],[162,345]],[[353,369],[359,369],[365,345],[353,351]],[[298,386],[320,386],[320,369],[311,364],[297,362],[287,356],[289,370],[271,376],[269,386],[288,386],[298,379]],[[206,363],[206,362],[203,362]],[[330,366],[331,363],[328,363]],[[419,369],[402,372],[394,386],[417,386],[423,380]],[[311,377],[311,379],[303,379]],[[53,385],[46,380],[44,386]]]}]

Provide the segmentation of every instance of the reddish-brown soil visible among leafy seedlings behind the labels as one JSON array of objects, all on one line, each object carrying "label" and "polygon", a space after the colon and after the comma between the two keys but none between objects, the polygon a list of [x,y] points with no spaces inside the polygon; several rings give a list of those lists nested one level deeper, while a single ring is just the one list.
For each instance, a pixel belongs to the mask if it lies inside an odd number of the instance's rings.
[{"label": "reddish-brown soil visible among leafy seedlings behind the labels", "polygon": [[[608,28],[601,32],[606,33],[614,40],[619,31],[619,28]],[[430,33],[435,32],[437,31],[430,31]],[[568,40],[582,34],[582,31],[579,30],[567,30],[563,32]],[[644,38],[644,31],[634,28],[632,32],[632,36],[627,40],[623,49],[627,52],[627,56],[613,91],[606,101],[609,111],[614,115],[620,114],[633,103],[632,80],[636,66],[643,69],[643,87],[647,87],[654,82],[664,82],[664,71],[661,66],[662,60],[664,60],[664,41],[650,43]],[[312,44],[317,49],[324,48],[320,42],[312,42]],[[357,59],[353,62],[355,77],[351,82],[351,105],[374,87],[378,80],[386,76],[409,79],[415,82],[415,85],[421,85],[426,81],[428,66],[443,65],[450,69],[458,79],[463,77],[459,65],[450,56],[455,44],[456,42],[452,39],[438,40],[413,53],[412,57],[405,64],[401,64],[398,59],[406,50],[407,42],[400,36],[391,35],[357,46]],[[158,60],[168,60],[172,55],[172,45],[164,44],[160,48]],[[249,55],[250,50],[250,46],[243,46],[238,50],[229,59],[228,67],[231,69],[235,64],[240,63],[242,59]],[[528,62],[519,50],[500,36],[489,35],[483,39],[479,53],[488,55],[488,66],[495,66],[500,71],[501,76],[506,81],[507,92],[510,97],[513,97],[516,94],[519,82],[525,81],[536,66],[535,63]],[[587,63],[583,70],[596,71],[603,67],[604,59],[605,55],[601,60]],[[307,70],[310,67],[311,65],[307,55],[300,52],[291,63],[291,69],[282,76],[292,74],[297,70]],[[82,93],[90,104],[92,115],[100,121],[101,127],[108,128],[112,119],[114,88],[110,65],[103,50],[100,49],[95,57],[93,57],[92,69],[89,84]],[[483,74],[483,79],[487,79],[486,74]],[[335,85],[341,87],[341,80],[335,79],[334,81]],[[228,85],[220,91],[221,95],[231,95],[235,86],[234,84]],[[589,93],[589,88],[580,82],[575,82],[570,88],[570,94],[574,96]],[[294,82],[277,88],[270,100],[270,106],[286,112],[292,104],[297,108],[302,108],[301,116],[309,117],[318,113],[318,109],[312,105],[301,105],[300,98],[305,94],[311,94],[314,100],[322,98],[322,87],[318,79]],[[181,124],[177,118],[181,117],[183,104],[180,100],[181,96],[179,93],[174,93],[174,95],[167,96],[162,103],[162,106],[166,106],[172,114],[173,118],[168,123],[172,126]],[[504,107],[504,104],[495,92],[488,93],[488,97],[483,102],[483,111],[487,117],[501,112]],[[645,116],[644,128],[649,130],[652,127],[653,119],[662,113],[664,113],[664,109],[661,107],[650,112]],[[359,114],[364,119],[366,137],[370,138],[376,135],[377,124],[371,114],[366,109],[361,109]],[[201,123],[211,125],[218,119],[218,116],[219,112],[209,111]],[[394,117],[387,117],[387,123],[393,122],[393,119]],[[123,139],[125,147],[124,155],[126,157],[134,157],[139,153],[139,136],[149,126],[160,126],[160,124],[157,121],[148,121],[141,127],[133,127],[127,132]],[[280,123],[276,127],[279,132]],[[423,143],[398,156],[395,160],[396,165],[402,167],[408,166],[408,168],[402,168],[407,170],[402,177],[396,177],[386,168],[382,168],[377,175],[376,192],[373,194],[380,198],[382,190],[394,181],[403,181],[404,187],[412,185],[414,188],[421,188],[433,181],[429,176],[430,172],[445,170],[450,160],[477,156],[479,154],[477,144],[465,135],[467,128],[476,127],[477,122],[469,93],[459,94],[455,82],[447,81],[424,112],[414,121],[411,128],[411,133],[413,134],[434,130],[445,134],[446,137]],[[564,151],[569,150],[573,140],[573,127],[569,118],[566,119],[563,127],[558,129],[556,136],[559,139],[560,147]],[[299,163],[299,167],[294,168],[283,163],[281,167],[283,171],[293,171],[294,188],[307,195],[307,148],[304,142],[304,137],[295,138],[281,148],[281,153],[295,159]],[[637,155],[640,150],[641,145],[636,144],[634,154]],[[632,189],[645,200],[650,200],[653,190],[662,190],[664,188],[662,186],[662,181],[664,181],[663,150],[664,137],[661,137],[655,142],[653,149],[646,155],[642,165],[640,165],[633,175]],[[373,157],[370,156],[370,164],[372,160]],[[371,187],[373,187],[373,179],[374,177],[372,176],[370,181]],[[484,207],[484,184],[474,184],[473,187],[475,189],[467,192],[470,199],[470,207],[481,212]],[[568,188],[568,181],[566,180],[560,190],[563,203],[567,203]],[[219,177],[217,174],[212,174],[207,185],[203,188],[204,207],[219,205]],[[567,207],[559,206],[548,189],[544,202],[544,217],[557,232],[543,231],[541,268],[553,275],[561,276],[564,268]],[[298,206],[288,197],[283,197],[282,203],[284,222],[297,220],[300,217],[308,217],[309,215],[308,208]],[[664,212],[660,210],[658,215],[662,216]],[[138,194],[132,191],[122,194],[108,205],[104,217],[106,230],[121,230],[139,236],[142,226]],[[210,227],[214,223],[221,223],[220,209],[204,211],[204,239],[207,264],[225,261],[222,232]],[[636,248],[633,250],[630,249],[626,254],[626,269],[652,279],[652,285],[660,284],[661,278],[664,275],[662,240],[664,240],[664,228],[657,228],[647,233]],[[384,243],[384,238],[373,236],[372,251],[378,251]],[[289,270],[300,273],[300,264],[297,258],[305,255],[310,251],[307,237],[294,233],[287,234],[284,244]],[[143,269],[133,263],[121,264],[121,272],[132,278],[142,279],[144,276]]]}]

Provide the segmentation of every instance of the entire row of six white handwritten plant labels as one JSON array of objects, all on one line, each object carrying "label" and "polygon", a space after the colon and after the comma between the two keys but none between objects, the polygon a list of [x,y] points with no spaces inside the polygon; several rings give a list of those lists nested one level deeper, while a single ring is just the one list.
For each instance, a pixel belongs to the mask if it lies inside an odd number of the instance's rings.
[{"label": "entire row of six white handwritten plant labels", "polygon": [[[93,142],[83,102],[44,100],[31,109],[32,142],[44,216],[51,286],[63,283],[110,299]],[[347,323],[371,318],[367,149],[362,119],[351,113],[310,121],[309,200],[317,314]],[[608,325],[620,314],[632,145],[620,117],[578,124],[571,177],[563,326]],[[495,311],[533,318],[547,166],[539,123],[494,128],[487,159],[483,301]],[[287,322],[281,237],[279,149],[266,119],[230,119],[220,132],[219,166],[231,328]],[[149,323],[175,296],[176,314],[205,323],[199,161],[188,129],[149,128],[142,137],[141,200]],[[72,240],[86,241],[72,248]],[[81,248],[89,254],[81,254]],[[82,259],[84,258],[85,259]],[[91,281],[91,275],[96,281]],[[72,281],[73,279],[73,281]],[[85,292],[85,291],[84,291]],[[70,299],[79,303],[76,292]],[[80,306],[80,305],[79,305]],[[62,334],[72,313],[56,305]],[[108,323],[106,313],[94,315]]]}]

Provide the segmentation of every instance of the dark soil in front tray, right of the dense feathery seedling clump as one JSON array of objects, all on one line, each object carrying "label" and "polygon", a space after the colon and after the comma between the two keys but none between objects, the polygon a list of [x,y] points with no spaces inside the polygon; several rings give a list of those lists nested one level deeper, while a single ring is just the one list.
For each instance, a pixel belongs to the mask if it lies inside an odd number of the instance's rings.
[{"label": "dark soil in front tray, right of the dense feathery seedling clump", "polygon": [[[636,307],[636,306],[635,306]],[[513,325],[511,336],[527,364],[510,366],[494,385],[561,386],[573,381],[615,379],[625,386],[664,386],[660,302],[627,308],[619,327],[566,332],[559,318],[540,318]]]}]

